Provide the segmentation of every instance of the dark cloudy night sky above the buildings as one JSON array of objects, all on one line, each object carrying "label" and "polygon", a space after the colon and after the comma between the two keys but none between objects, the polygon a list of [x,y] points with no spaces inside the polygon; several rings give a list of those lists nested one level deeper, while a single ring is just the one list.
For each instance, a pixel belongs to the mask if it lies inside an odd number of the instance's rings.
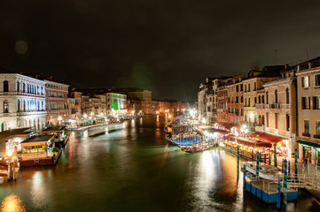
[{"label": "dark cloudy night sky above the buildings", "polygon": [[320,56],[320,1],[259,2],[2,1],[0,64],[195,101],[207,77]]}]

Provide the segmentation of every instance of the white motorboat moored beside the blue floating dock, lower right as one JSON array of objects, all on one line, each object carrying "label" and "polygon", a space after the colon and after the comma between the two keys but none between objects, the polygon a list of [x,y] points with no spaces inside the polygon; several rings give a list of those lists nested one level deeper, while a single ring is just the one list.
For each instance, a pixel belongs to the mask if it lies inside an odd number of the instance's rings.
[{"label": "white motorboat moored beside the blue floating dock, lower right", "polygon": [[[256,162],[244,162],[241,163],[241,169],[243,170],[244,164],[246,164],[246,171],[256,175]],[[279,173],[277,167],[266,164],[259,163],[259,178],[275,180],[279,178]]]}]

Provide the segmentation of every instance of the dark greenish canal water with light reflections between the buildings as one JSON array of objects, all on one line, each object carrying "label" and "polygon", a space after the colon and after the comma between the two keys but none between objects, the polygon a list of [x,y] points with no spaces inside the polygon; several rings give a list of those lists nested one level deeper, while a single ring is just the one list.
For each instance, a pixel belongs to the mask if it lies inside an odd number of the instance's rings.
[{"label": "dark greenish canal water with light reflections between the buildings", "polygon": [[[220,148],[194,155],[164,140],[164,117],[94,136],[70,134],[55,167],[20,170],[0,185],[0,211],[276,211],[237,181],[237,159]],[[319,211],[299,193],[287,211]]]}]

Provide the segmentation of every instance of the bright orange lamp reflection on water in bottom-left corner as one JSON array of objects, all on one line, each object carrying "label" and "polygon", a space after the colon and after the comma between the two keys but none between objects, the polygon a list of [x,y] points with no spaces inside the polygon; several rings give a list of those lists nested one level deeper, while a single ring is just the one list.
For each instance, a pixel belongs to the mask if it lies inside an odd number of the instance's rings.
[{"label": "bright orange lamp reflection on water in bottom-left corner", "polygon": [[20,197],[12,193],[4,197],[1,203],[0,212],[22,212],[26,211],[26,208],[22,204]]}]

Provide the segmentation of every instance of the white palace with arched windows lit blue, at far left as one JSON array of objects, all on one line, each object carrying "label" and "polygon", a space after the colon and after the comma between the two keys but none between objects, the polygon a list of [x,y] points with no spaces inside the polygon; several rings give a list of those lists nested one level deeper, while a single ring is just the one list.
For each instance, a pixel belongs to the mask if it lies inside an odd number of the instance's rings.
[{"label": "white palace with arched windows lit blue, at far left", "polygon": [[45,126],[45,82],[19,73],[0,73],[0,131]]}]

